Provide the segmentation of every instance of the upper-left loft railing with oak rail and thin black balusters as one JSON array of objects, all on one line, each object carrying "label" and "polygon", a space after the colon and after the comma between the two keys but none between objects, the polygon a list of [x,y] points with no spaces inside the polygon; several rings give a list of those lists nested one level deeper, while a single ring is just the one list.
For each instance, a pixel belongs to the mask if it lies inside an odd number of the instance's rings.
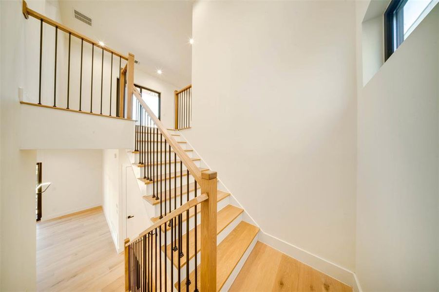
[{"label": "upper-left loft railing with oak rail and thin black balusters", "polygon": [[38,80],[29,94],[38,95],[31,96],[34,102],[21,103],[132,119],[133,54],[123,55],[79,34],[28,8],[25,1],[22,12],[30,29],[39,28],[39,43],[30,44],[33,53],[39,45],[39,68],[27,68],[29,78]]}]

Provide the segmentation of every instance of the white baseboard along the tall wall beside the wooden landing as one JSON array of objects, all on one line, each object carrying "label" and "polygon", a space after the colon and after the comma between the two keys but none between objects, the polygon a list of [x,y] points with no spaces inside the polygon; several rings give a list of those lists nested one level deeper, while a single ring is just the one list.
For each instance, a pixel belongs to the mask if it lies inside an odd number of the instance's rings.
[{"label": "white baseboard along the tall wall beside the wooden landing", "polygon": [[300,262],[327,274],[348,286],[353,287],[355,292],[362,292],[357,276],[352,271],[349,271],[339,265],[332,263],[320,256],[311,254],[297,246],[294,246],[282,239],[271,236],[261,230],[259,240],[274,249],[297,259]]}]

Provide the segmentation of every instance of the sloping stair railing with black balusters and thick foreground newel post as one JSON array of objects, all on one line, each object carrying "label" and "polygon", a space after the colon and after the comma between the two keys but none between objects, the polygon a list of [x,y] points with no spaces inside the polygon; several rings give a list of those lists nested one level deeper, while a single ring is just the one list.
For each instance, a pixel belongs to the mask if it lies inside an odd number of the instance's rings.
[{"label": "sloping stair railing with black balusters and thick foreground newel post", "polygon": [[[201,171],[147,106],[139,91],[133,87],[133,92],[138,166],[143,167],[143,181],[153,186],[153,198],[160,201],[160,217],[138,237],[125,240],[125,290],[169,291],[174,285],[177,291],[190,291],[190,287],[194,292],[199,288],[201,291],[216,291],[216,172]],[[183,184],[184,179],[186,184]],[[193,199],[190,198],[192,179]],[[201,186],[200,196],[198,185]],[[191,236],[188,224],[193,216],[194,226],[198,226],[198,204],[201,204],[200,245],[197,242],[198,228]],[[183,221],[186,221],[185,237]],[[193,249],[190,250],[190,246]],[[198,252],[201,252],[199,267]],[[168,260],[171,261],[170,271],[167,269]],[[187,279],[185,288],[181,286],[182,261]],[[176,279],[174,263],[177,263]],[[195,273],[194,283],[188,280],[191,268]]]}]

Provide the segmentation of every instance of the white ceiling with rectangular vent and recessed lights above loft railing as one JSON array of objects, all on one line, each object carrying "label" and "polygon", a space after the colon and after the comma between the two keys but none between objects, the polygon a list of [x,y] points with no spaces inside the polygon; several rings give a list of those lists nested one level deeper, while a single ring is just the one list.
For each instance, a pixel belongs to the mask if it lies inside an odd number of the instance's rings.
[{"label": "white ceiling with rectangular vent and recessed lights above loft railing", "polygon": [[[179,88],[191,83],[191,1],[59,0],[59,7],[64,25],[133,53],[136,68]],[[74,18],[74,9],[92,18],[93,26]]]}]

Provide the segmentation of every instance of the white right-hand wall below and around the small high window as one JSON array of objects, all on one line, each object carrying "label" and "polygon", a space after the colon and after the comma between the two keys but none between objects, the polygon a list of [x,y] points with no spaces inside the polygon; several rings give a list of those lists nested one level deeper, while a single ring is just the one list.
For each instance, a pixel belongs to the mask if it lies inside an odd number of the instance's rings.
[{"label": "white right-hand wall below and around the small high window", "polygon": [[[357,3],[358,41],[366,7]],[[438,37],[436,7],[367,85],[358,83],[356,274],[363,291],[439,290]]]}]

